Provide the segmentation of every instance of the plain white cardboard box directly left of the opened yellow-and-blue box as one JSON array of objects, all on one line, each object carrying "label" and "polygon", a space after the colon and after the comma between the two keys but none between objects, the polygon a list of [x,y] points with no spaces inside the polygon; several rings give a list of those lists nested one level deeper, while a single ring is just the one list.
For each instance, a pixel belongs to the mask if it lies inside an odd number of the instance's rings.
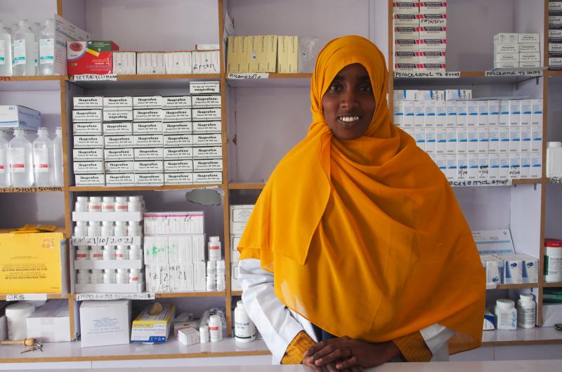
[{"label": "plain white cardboard box directly left of the opened yellow-and-blue box", "polygon": [[83,301],[81,347],[128,344],[130,324],[131,300]]}]

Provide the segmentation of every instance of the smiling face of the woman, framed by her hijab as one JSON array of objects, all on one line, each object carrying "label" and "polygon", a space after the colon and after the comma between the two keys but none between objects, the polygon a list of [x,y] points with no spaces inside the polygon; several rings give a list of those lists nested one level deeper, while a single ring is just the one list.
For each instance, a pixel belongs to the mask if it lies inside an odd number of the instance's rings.
[{"label": "smiling face of the woman, framed by her hijab", "polygon": [[355,140],[365,134],[374,107],[369,73],[359,63],[341,69],[322,97],[324,118],[339,140]]}]

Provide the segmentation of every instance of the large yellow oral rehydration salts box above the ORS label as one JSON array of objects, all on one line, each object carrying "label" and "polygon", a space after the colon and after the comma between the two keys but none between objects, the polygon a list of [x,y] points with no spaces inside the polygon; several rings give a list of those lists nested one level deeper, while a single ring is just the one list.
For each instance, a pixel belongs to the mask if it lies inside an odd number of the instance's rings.
[{"label": "large yellow oral rehydration salts box above the ORS label", "polygon": [[0,233],[0,293],[66,293],[62,232]]}]

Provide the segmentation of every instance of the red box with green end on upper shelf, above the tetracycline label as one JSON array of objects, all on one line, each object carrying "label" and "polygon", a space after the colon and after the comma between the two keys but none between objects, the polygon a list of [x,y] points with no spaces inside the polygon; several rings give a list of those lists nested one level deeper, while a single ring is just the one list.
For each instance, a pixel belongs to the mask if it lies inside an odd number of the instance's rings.
[{"label": "red box with green end on upper shelf, above the tetracycline label", "polygon": [[67,73],[111,74],[112,51],[119,46],[113,41],[67,41]]}]

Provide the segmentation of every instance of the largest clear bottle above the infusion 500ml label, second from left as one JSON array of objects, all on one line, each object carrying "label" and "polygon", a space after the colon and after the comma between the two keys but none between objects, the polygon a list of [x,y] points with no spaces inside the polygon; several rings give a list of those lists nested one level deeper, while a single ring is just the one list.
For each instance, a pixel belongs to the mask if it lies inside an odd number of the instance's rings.
[{"label": "largest clear bottle above the infusion 500ml label, second from left", "polygon": [[13,187],[30,187],[33,185],[32,145],[25,138],[23,129],[15,128],[13,135],[8,143],[11,184]]}]

